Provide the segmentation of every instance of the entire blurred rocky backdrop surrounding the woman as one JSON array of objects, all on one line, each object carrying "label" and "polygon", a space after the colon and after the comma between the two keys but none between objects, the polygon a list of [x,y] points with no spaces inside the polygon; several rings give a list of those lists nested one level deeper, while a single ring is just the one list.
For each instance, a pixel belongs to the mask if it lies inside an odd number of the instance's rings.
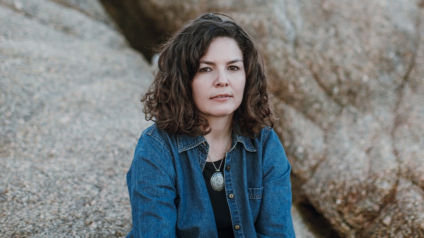
[{"label": "entire blurred rocky backdrop surrounding the woman", "polygon": [[423,0],[0,0],[1,237],[123,237],[154,49],[220,12],[257,39],[299,238],[424,237]]}]

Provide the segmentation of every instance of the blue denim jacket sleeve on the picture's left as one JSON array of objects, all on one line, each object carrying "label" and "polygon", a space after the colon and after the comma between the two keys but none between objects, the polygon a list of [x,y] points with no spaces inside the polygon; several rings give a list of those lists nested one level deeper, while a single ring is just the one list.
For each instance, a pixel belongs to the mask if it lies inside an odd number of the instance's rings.
[{"label": "blue denim jacket sleeve on the picture's left", "polygon": [[133,225],[127,238],[175,237],[175,168],[166,146],[143,134],[126,180]]}]

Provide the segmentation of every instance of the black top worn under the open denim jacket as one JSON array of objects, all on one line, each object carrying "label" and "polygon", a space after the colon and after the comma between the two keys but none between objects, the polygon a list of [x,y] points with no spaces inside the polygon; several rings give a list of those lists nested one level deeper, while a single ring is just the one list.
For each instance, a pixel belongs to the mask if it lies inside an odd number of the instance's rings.
[{"label": "black top worn under the open denim jacket", "polygon": [[[215,161],[216,168],[219,167],[221,160]],[[223,171],[225,159],[222,161],[221,172]],[[206,162],[203,169],[203,178],[208,188],[209,197],[212,203],[213,215],[215,216],[216,229],[219,238],[234,238],[233,224],[231,222],[230,208],[227,203],[225,189],[215,191],[211,186],[211,177],[215,173],[212,162]]]}]

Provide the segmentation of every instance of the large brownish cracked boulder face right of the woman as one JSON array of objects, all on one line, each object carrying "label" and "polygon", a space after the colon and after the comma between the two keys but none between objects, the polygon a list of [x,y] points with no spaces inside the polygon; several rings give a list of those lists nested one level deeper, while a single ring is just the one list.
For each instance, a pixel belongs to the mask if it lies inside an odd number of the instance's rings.
[{"label": "large brownish cracked boulder face right of the woman", "polygon": [[123,2],[158,32],[205,12],[247,26],[273,81],[299,201],[342,237],[423,237],[423,1]]}]

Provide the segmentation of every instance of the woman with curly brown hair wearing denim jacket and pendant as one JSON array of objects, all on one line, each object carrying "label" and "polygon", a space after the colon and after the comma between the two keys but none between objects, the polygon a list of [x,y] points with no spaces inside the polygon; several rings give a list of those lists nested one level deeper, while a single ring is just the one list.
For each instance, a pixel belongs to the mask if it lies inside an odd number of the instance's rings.
[{"label": "woman with curly brown hair wearing denim jacket and pendant", "polygon": [[262,57],[203,15],[161,48],[137,144],[127,237],[294,237],[290,164],[272,130]]}]

